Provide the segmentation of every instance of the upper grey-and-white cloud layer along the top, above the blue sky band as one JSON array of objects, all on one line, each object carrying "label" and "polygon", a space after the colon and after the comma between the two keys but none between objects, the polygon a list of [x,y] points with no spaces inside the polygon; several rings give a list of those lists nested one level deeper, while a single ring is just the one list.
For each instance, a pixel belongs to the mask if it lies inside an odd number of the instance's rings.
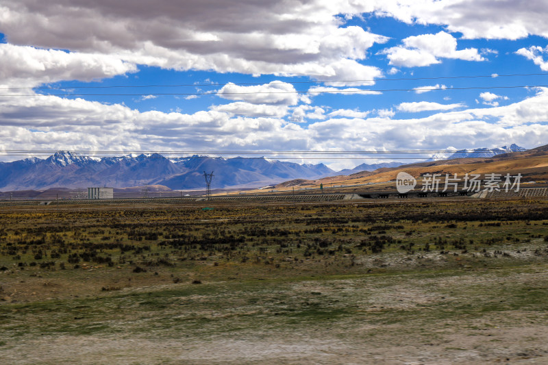
[{"label": "upper grey-and-white cloud layer along the top, above the blue sky band", "polygon": [[[361,61],[375,43],[388,38],[343,26],[340,14],[443,25],[464,38],[517,39],[548,36],[545,12],[540,0],[478,0],[473,6],[469,0],[190,0],[184,5],[158,0],[153,6],[129,0],[4,0],[0,32],[12,45],[99,53],[117,62],[175,70],[371,80],[381,72]],[[390,64],[483,60],[477,49],[457,49],[456,38],[447,32],[411,36],[402,43],[385,51]]]}]

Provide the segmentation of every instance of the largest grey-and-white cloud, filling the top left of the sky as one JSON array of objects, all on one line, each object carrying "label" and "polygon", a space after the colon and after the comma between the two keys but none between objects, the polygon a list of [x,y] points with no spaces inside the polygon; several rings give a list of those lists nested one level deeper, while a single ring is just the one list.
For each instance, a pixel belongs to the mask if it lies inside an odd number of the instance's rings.
[{"label": "largest grey-and-white cloud, filling the top left of the sky", "polygon": [[321,0],[5,0],[0,32],[13,45],[116,55],[178,71],[367,79],[370,85],[381,72],[356,60],[388,38],[342,26],[338,17],[362,10]]}]

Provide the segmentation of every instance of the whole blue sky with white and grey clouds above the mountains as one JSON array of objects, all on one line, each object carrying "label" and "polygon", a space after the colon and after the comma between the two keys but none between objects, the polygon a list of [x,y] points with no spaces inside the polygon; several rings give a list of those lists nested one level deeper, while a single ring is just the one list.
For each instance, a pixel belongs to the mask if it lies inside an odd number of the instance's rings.
[{"label": "whole blue sky with white and grey clouds above the mountains", "polygon": [[431,154],[356,151],[538,147],[546,18],[544,0],[0,0],[0,160],[336,170]]}]

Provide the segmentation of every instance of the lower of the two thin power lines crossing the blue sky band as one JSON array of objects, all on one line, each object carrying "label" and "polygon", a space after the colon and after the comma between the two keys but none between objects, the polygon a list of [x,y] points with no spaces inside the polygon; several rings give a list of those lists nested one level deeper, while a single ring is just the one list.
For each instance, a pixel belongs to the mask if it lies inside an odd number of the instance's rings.
[{"label": "lower of the two thin power lines crossing the blue sky band", "polygon": [[[512,88],[548,88],[548,85],[514,85],[514,86],[467,86],[464,88],[411,88],[411,89],[354,89],[354,90],[295,90],[295,91],[257,91],[257,92],[222,92],[215,95],[260,95],[260,94],[340,94],[340,93],[371,93],[393,91],[447,91],[447,90],[493,90]],[[145,96],[199,96],[213,95],[210,92],[147,92],[145,94],[0,94],[0,97],[145,97]]]}]

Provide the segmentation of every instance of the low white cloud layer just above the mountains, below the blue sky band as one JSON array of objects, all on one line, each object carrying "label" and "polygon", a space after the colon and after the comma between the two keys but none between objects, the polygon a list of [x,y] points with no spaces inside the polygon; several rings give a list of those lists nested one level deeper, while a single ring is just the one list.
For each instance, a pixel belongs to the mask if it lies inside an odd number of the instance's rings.
[{"label": "low white cloud layer just above the mountains, below the blue sky band", "polygon": [[[262,87],[269,87],[265,84]],[[493,100],[493,96],[484,95]],[[235,101],[209,111],[138,112],[124,105],[105,105],[53,96],[0,98],[0,147],[34,149],[165,151],[242,149],[318,150],[344,146],[347,150],[444,149],[453,145],[490,146],[491,141],[524,145],[545,143],[548,134],[548,90],[497,108],[445,111],[424,118],[398,119],[390,110],[333,110],[308,106],[301,118],[308,125],[284,120],[290,105]],[[401,103],[397,110],[453,110],[462,104]],[[298,110],[298,109],[295,109]],[[369,117],[369,115],[379,115]],[[70,117],[69,117],[70,116]],[[62,123],[60,123],[62,122]],[[71,141],[71,143],[67,143]],[[305,156],[303,156],[305,158]]]}]

